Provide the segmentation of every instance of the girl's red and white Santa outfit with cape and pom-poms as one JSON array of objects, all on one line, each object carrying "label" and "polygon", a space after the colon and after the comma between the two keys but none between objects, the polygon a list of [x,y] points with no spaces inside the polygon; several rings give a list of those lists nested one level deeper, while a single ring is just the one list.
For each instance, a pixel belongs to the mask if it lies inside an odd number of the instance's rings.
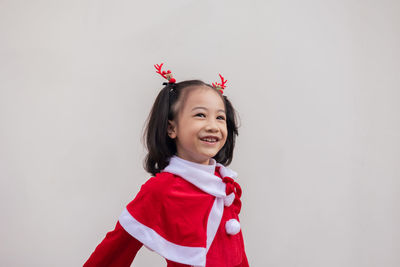
[{"label": "girl's red and white Santa outfit with cape and pom-poms", "polygon": [[84,266],[130,266],[144,245],[168,267],[248,267],[236,177],[214,159],[203,165],[173,156],[143,184]]}]

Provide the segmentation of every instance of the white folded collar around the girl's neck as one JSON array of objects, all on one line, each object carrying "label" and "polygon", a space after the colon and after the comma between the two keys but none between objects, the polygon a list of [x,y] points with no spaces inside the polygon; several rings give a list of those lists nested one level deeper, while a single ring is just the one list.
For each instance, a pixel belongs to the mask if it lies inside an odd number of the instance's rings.
[{"label": "white folded collar around the girl's neck", "polygon": [[162,172],[179,175],[182,179],[210,195],[226,197],[225,183],[214,174],[216,167],[219,167],[219,172],[222,177],[231,177],[232,179],[237,177],[236,172],[217,163],[213,158],[210,159],[209,165],[205,165],[187,161],[178,156],[172,156],[168,166],[162,170]]}]

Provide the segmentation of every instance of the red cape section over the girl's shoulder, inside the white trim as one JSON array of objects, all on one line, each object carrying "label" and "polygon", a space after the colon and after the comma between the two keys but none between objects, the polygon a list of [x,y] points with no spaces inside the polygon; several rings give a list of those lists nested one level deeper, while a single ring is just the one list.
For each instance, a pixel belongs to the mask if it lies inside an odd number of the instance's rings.
[{"label": "red cape section over the girl's shoulder, inside the white trim", "polygon": [[214,199],[179,176],[163,172],[142,186],[127,210],[172,243],[206,247],[207,220]]}]

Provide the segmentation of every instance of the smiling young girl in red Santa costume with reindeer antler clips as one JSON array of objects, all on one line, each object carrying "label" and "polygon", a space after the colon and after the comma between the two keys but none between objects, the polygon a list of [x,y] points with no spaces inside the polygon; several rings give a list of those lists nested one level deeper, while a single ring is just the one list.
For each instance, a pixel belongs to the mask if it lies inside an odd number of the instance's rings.
[{"label": "smiling young girl in red Santa costume with reindeer antler clips", "polygon": [[130,266],[142,245],[168,267],[246,267],[238,215],[241,189],[232,161],[238,134],[226,81],[169,82],[158,94],[145,131],[145,168],[154,177],[122,212],[85,263]]}]

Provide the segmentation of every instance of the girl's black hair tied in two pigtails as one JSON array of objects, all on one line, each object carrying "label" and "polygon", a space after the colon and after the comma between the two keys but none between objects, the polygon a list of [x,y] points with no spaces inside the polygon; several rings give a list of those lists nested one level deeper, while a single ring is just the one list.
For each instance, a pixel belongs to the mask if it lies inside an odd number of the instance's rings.
[{"label": "girl's black hair tied in two pigtails", "polygon": [[[168,120],[175,119],[180,109],[177,104],[184,103],[188,92],[198,86],[207,86],[216,90],[211,85],[200,80],[167,83],[154,101],[143,134],[148,150],[144,160],[144,168],[152,175],[156,175],[156,173],[163,170],[168,165],[169,159],[175,155],[175,141],[168,136],[167,132]],[[229,99],[221,93],[219,94],[225,105],[228,134],[224,146],[214,156],[214,159],[223,165],[229,165],[232,162],[235,140],[238,135],[237,117]]]}]

